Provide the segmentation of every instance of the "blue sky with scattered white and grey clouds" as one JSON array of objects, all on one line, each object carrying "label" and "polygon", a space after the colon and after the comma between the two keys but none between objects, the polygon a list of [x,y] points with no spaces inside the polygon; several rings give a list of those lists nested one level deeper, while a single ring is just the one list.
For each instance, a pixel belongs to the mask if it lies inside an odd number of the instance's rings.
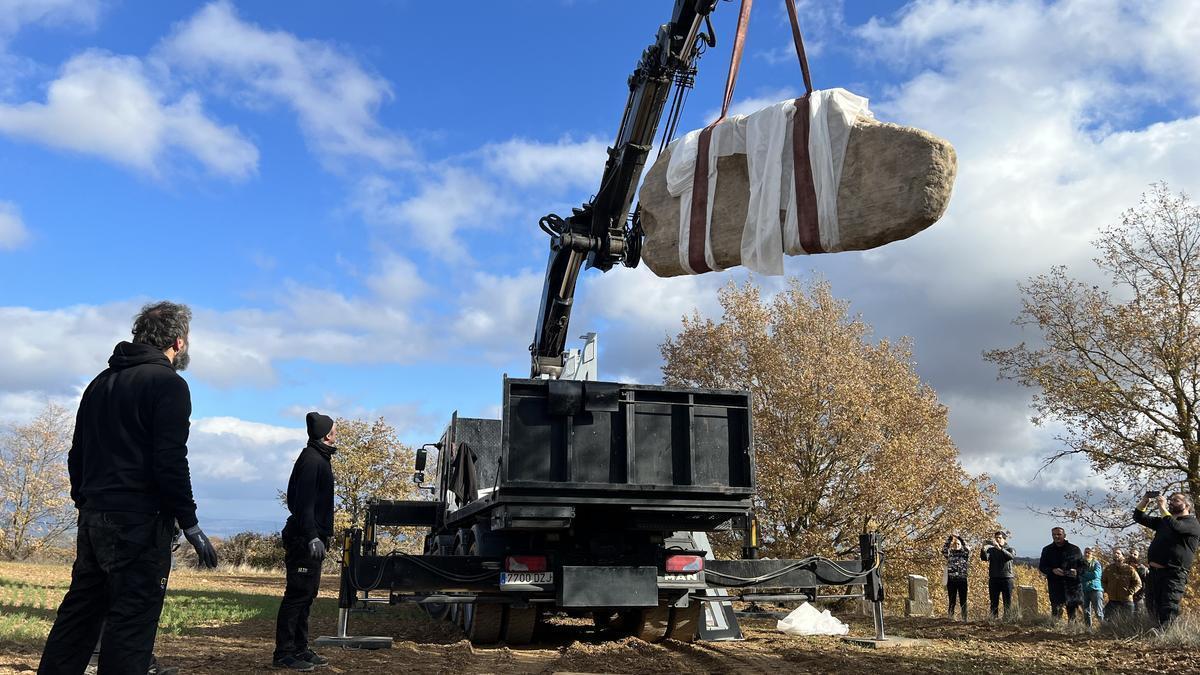
[{"label": "blue sky with scattered white and grey clouds", "polygon": [[[547,240],[538,219],[599,186],[626,78],[668,0],[0,0],[0,423],[73,408],[144,303],[190,304],[190,460],[202,525],[270,531],[304,413],[383,416],[434,441],[494,417],[528,372]],[[716,117],[736,4],[714,16],[679,127]],[[875,327],[911,336],[964,466],[1000,489],[1019,554],[1032,508],[1103,486],[1037,473],[1057,446],[1031,392],[980,353],[1018,282],[1091,265],[1098,228],[1151,184],[1196,195],[1200,4],[800,2],[815,85],[948,139],[944,217],[868,252],[788,258]],[[803,91],[782,4],[760,2],[734,97]],[[606,380],[658,383],[684,313],[744,270],[583,274],[571,330]],[[768,292],[782,277],[755,277]],[[1080,542],[1082,543],[1082,542]]]}]

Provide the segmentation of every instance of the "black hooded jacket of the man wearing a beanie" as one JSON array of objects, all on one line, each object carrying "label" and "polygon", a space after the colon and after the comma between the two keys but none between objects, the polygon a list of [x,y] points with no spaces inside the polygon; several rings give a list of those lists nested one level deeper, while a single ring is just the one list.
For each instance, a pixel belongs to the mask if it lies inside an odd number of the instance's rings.
[{"label": "black hooded jacket of the man wearing a beanie", "polygon": [[283,538],[328,542],[334,534],[334,467],[337,448],[311,440],[300,450],[288,478],[288,516]]}]

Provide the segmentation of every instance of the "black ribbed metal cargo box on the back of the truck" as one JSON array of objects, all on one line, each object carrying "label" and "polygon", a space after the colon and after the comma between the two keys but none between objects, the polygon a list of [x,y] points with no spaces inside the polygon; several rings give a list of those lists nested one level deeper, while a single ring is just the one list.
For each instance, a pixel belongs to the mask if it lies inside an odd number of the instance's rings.
[{"label": "black ribbed metal cargo box on the back of the truck", "polygon": [[749,404],[745,392],[505,380],[499,491],[752,489]]}]

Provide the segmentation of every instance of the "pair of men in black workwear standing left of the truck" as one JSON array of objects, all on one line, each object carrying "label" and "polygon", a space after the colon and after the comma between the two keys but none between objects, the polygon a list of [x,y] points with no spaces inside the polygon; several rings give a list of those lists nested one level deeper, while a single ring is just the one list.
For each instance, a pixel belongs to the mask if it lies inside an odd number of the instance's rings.
[{"label": "pair of men in black workwear standing left of the truck", "polygon": [[[174,670],[160,668],[152,650],[180,532],[202,566],[217,566],[196,518],[187,462],[192,398],[179,371],[190,360],[191,318],[186,305],[144,306],[132,341],[116,345],[83,393],[67,455],[79,512],[76,560],[38,674],[80,675],[97,643],[101,674]],[[287,585],[271,659],[301,671],[328,664],[308,647],[308,613],[334,533],[337,450],[331,418],[311,412],[305,423],[308,443],[288,480]]]}]

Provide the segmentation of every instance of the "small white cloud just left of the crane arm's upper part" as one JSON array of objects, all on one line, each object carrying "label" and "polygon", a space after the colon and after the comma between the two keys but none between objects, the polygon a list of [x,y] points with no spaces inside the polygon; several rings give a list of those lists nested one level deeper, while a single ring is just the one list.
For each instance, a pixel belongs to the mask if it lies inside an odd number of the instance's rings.
[{"label": "small white cloud just left of the crane arm's upper part", "polygon": [[541,143],[512,138],[484,148],[487,167],[523,187],[599,187],[608,145],[599,138]]}]

